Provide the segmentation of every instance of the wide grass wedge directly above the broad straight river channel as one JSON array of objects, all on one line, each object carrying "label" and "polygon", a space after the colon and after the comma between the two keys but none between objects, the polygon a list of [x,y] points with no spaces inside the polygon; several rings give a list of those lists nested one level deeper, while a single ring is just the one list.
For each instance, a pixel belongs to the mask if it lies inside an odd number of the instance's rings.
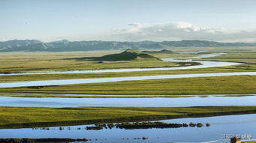
[{"label": "wide grass wedge directly above the broad straight river channel", "polygon": [[256,76],[217,76],[182,79],[57,85],[42,88],[0,88],[0,94],[255,94]]}]

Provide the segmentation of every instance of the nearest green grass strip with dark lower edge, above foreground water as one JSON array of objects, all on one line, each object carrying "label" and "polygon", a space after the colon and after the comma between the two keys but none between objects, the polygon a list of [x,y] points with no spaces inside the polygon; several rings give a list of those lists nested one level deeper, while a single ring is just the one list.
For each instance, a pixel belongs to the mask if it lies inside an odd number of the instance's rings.
[{"label": "nearest green grass strip with dark lower edge, above foreground water", "polygon": [[0,128],[153,121],[256,113],[256,106],[205,107],[0,107]]}]

